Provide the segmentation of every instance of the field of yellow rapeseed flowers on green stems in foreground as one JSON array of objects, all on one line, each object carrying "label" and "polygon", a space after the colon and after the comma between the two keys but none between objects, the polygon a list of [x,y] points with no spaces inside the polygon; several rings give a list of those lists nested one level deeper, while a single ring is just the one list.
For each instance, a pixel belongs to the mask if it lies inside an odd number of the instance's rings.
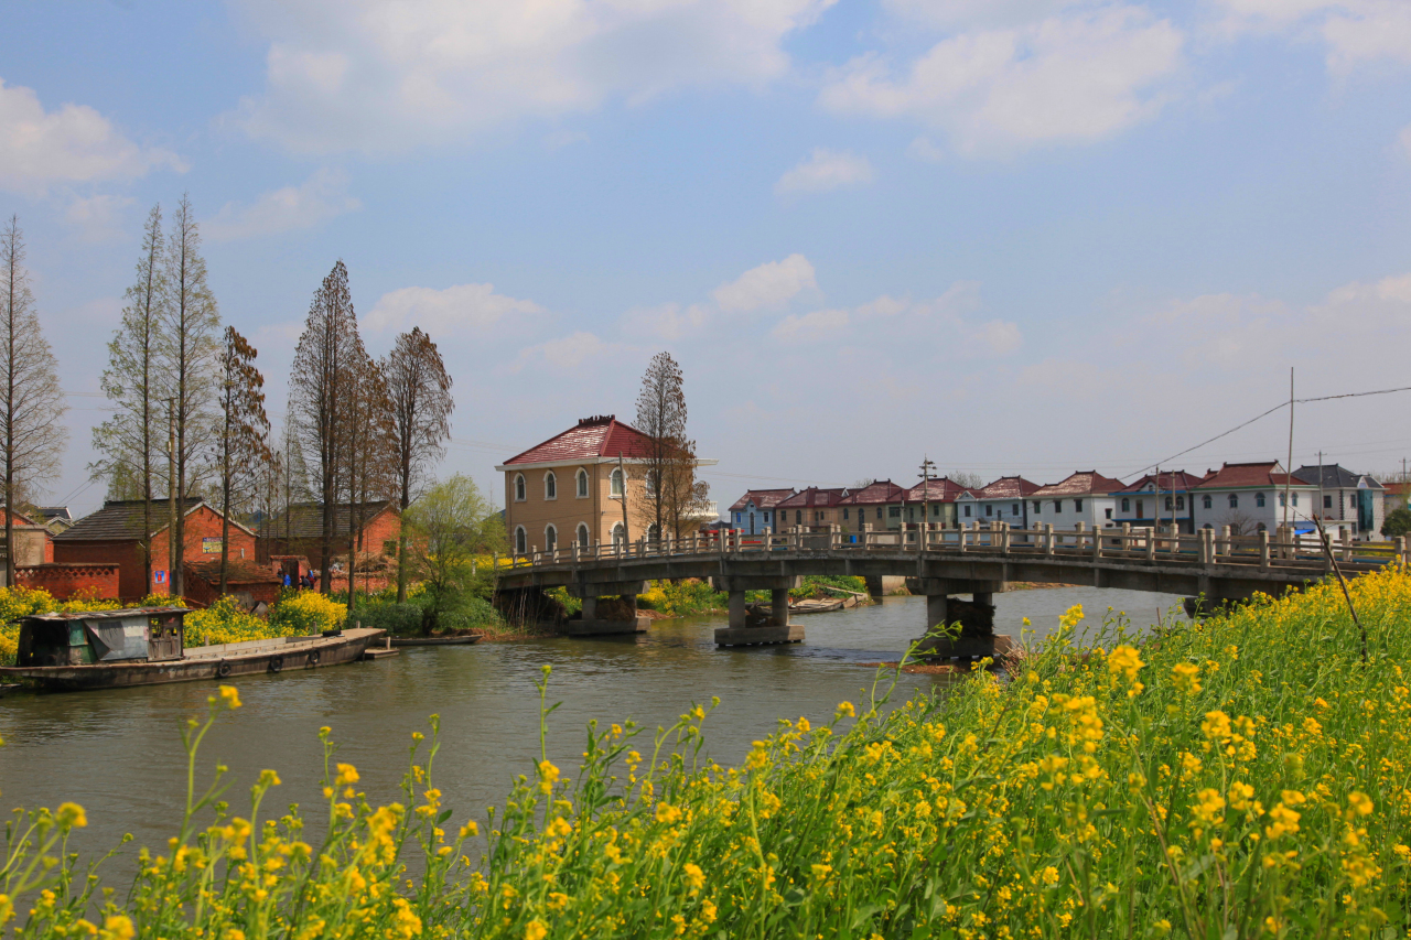
[{"label": "field of yellow rapeseed flowers on green stems in foreground", "polygon": [[[1411,926],[1411,574],[1139,634],[1084,613],[1015,663],[885,707],[783,720],[738,768],[710,706],[590,727],[487,817],[452,819],[430,740],[371,806],[325,730],[326,834],[192,785],[185,823],[103,895],[85,810],[16,816],[21,937],[1400,937]],[[1364,639],[1363,639],[1364,632]],[[539,694],[547,706],[550,677]],[[238,692],[190,720],[202,737]],[[545,713],[547,714],[547,707]],[[415,872],[415,874],[411,874]]]}]

